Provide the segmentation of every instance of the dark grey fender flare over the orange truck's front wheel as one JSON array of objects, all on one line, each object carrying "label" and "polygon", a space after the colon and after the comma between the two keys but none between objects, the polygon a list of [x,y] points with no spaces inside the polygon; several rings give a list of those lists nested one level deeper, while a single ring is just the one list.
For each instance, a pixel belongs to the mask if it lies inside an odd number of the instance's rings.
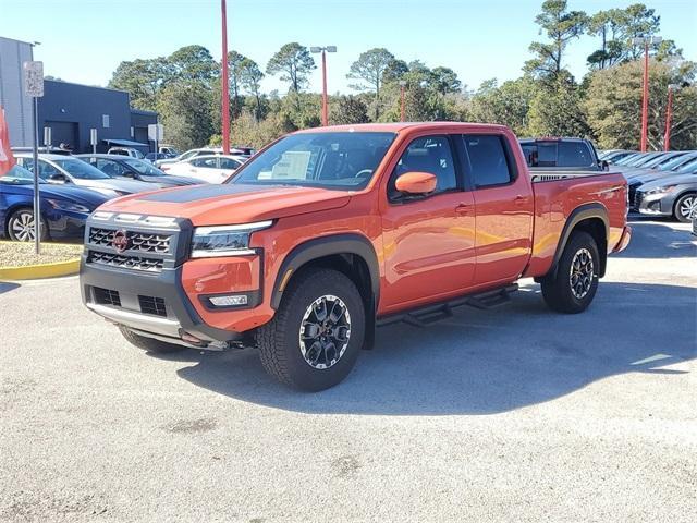
[{"label": "dark grey fender flare over the orange truck's front wheel", "polygon": [[271,307],[278,309],[281,304],[281,297],[283,295],[281,284],[288,283],[283,280],[286,279],[289,270],[292,271],[289,276],[290,278],[308,262],[332,254],[354,254],[363,258],[370,273],[370,288],[372,291],[370,302],[374,308],[377,309],[377,304],[380,299],[380,266],[378,264],[378,255],[370,240],[355,233],[316,238],[293,247],[281,263],[281,268],[276,275],[276,281],[271,291]]}]

